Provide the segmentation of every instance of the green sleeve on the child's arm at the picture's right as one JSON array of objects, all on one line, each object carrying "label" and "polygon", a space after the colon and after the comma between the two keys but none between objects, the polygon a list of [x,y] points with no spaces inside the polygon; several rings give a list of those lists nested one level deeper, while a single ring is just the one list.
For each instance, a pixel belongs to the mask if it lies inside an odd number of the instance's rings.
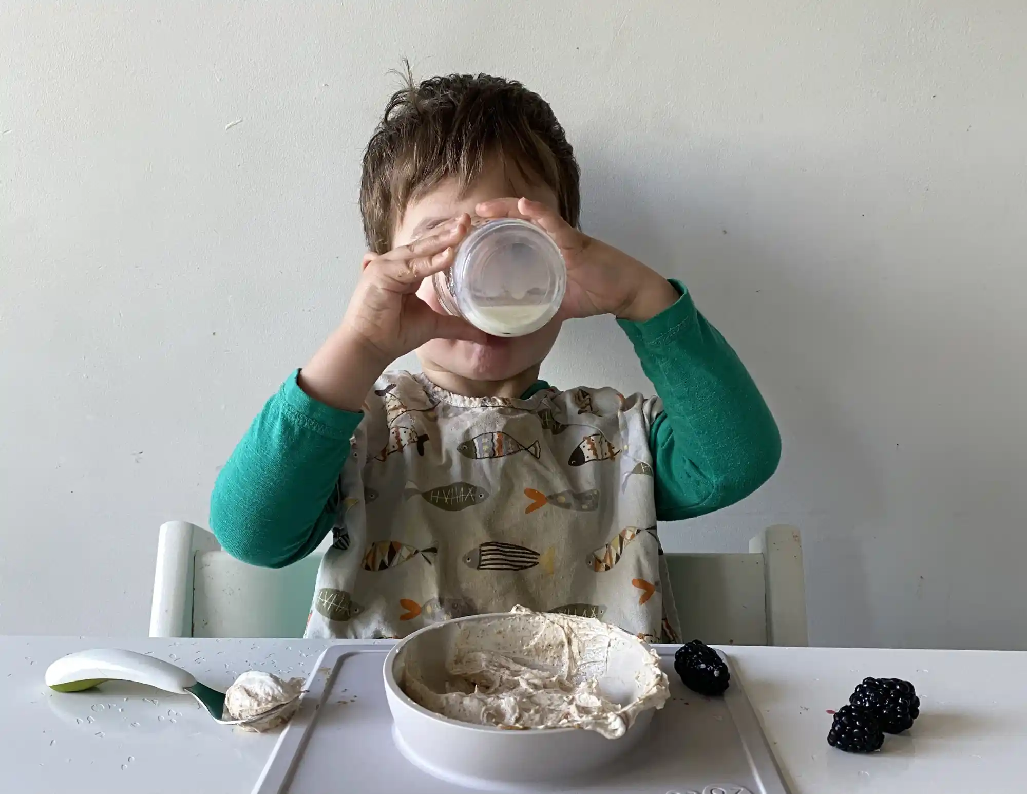
[{"label": "green sleeve on the child's arm at the picture's right", "polygon": [[687,290],[672,283],[681,298],[665,311],[619,320],[663,403],[649,436],[660,521],[733,504],[781,459],[777,425],[753,379]]}]

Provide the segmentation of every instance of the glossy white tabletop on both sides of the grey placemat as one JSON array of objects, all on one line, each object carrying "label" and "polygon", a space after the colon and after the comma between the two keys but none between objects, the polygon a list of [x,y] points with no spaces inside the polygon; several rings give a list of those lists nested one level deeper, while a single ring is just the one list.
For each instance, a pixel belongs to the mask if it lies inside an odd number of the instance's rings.
[{"label": "glossy white tabletop on both sides of the grey placemat", "polygon": [[[225,688],[249,669],[305,676],[326,644],[306,640],[113,641],[0,638],[0,791],[249,794],[275,734],[217,725],[191,698],[130,684],[51,692],[46,666],[89,647],[150,652]],[[725,649],[795,794],[1020,791],[1027,769],[1027,653]],[[864,676],[916,684],[922,714],[884,751],[848,755],[826,741],[828,709]],[[1009,788],[1006,788],[1009,787]],[[659,792],[658,794],[662,794]]]}]

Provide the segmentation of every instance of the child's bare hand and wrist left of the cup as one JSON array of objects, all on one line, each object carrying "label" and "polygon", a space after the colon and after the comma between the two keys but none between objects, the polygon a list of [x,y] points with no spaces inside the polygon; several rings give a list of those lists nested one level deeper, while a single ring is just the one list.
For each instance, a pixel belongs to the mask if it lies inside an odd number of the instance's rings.
[{"label": "child's bare hand and wrist left of the cup", "polygon": [[484,342],[484,332],[441,314],[416,294],[421,281],[453,264],[469,228],[464,214],[406,245],[366,254],[346,314],[300,372],[300,387],[321,403],[358,411],[378,376],[401,355],[431,339]]}]

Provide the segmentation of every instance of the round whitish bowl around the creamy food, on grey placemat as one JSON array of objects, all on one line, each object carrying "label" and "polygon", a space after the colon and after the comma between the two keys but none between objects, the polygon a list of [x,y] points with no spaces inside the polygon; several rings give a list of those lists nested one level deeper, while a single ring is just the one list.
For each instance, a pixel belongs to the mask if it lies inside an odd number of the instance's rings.
[{"label": "round whitish bowl around the creamy food, on grey placemat", "polygon": [[[429,626],[396,644],[385,659],[385,694],[392,712],[393,738],[400,751],[429,774],[458,785],[501,789],[556,781],[609,763],[635,747],[652,719],[653,709],[639,713],[618,739],[594,730],[540,728],[509,730],[459,722],[414,703],[403,690],[408,664],[436,691],[450,679],[446,664],[458,635],[474,635],[476,650],[509,653],[509,638],[524,636],[541,615],[509,613],[473,615]],[[586,618],[574,618],[584,620]],[[479,644],[479,642],[481,644]],[[516,650],[514,651],[516,652]],[[612,634],[606,674],[599,689],[621,706],[638,700],[644,684],[638,674],[651,665],[648,646],[626,632]]]}]

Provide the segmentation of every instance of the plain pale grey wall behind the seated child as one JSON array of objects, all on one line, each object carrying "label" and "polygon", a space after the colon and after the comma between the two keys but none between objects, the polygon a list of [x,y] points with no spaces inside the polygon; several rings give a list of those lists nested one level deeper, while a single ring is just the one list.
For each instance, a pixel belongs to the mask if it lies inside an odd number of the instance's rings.
[{"label": "plain pale grey wall behind the seated child", "polygon": [[[1019,0],[4,3],[0,632],[145,631],[157,526],[206,523],[342,314],[407,54],[545,96],[586,230],[764,389],[779,471],[670,550],[794,523],[814,643],[1027,648],[1025,30]],[[649,387],[609,319],[543,374]]]}]

